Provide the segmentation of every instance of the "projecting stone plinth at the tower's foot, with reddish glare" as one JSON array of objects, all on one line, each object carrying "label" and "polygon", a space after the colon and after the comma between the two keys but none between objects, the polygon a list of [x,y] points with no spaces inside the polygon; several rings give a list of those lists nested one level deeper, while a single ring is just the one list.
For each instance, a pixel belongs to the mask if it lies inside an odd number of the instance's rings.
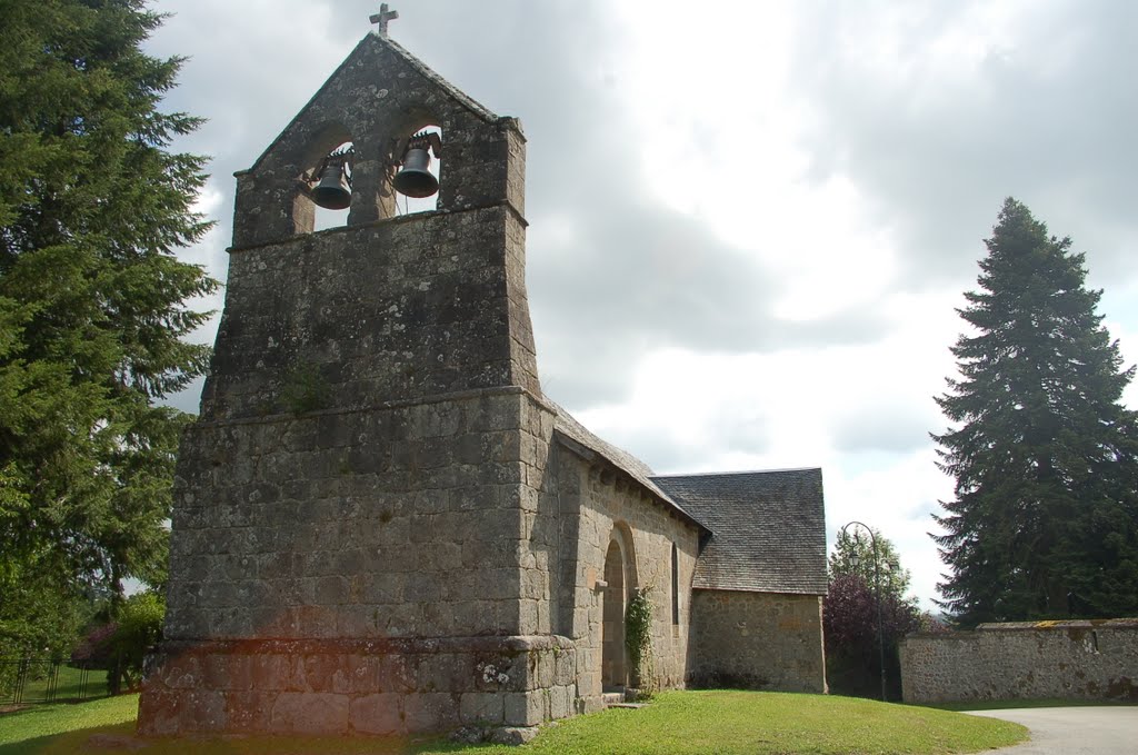
[{"label": "projecting stone plinth at the tower's foot, with reddish glare", "polygon": [[576,712],[559,637],[171,641],[149,665],[146,736],[494,730]]}]

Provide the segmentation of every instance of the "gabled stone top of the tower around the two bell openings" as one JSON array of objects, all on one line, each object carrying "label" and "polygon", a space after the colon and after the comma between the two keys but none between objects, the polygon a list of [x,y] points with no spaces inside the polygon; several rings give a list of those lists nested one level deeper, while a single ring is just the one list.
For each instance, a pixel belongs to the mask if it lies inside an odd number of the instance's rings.
[{"label": "gabled stone top of the tower around the two bell openings", "polygon": [[348,224],[390,218],[393,140],[428,125],[443,132],[439,210],[504,203],[519,218],[525,214],[525,137],[518,121],[494,115],[396,42],[369,34],[253,167],[237,173],[233,246],[311,232],[314,205],[298,179],[344,142],[355,148]]}]

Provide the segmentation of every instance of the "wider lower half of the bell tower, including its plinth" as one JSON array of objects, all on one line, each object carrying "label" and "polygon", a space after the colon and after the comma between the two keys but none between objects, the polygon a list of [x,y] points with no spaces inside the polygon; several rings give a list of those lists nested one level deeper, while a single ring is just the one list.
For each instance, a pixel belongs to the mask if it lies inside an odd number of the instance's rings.
[{"label": "wider lower half of the bell tower, including its plinth", "polygon": [[[578,708],[531,544],[552,412],[521,388],[198,424],[140,731],[531,727]],[[545,440],[543,440],[545,438]]]}]

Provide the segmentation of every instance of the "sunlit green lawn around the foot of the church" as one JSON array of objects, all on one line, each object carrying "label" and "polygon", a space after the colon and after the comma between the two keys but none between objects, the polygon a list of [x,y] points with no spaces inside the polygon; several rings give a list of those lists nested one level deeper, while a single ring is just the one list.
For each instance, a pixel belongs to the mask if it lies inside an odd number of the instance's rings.
[{"label": "sunlit green lawn around the foot of the church", "polygon": [[[185,753],[185,740],[126,740],[137,695],[80,705],[43,706],[0,715],[0,755],[139,752]],[[102,735],[97,747],[92,735]],[[106,737],[123,737],[119,748]],[[967,753],[1023,740],[1023,727],[948,711],[848,697],[776,692],[665,692],[640,709],[610,709],[545,727],[530,745],[459,746],[429,739],[312,739],[238,737],[193,740],[201,755],[394,755],[469,752],[478,755],[545,753]]]}]

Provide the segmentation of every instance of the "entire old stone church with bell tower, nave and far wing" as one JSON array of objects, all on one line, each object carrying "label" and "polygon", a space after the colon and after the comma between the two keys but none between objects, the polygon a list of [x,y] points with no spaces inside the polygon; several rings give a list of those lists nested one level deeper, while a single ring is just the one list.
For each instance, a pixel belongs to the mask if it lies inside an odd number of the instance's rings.
[{"label": "entire old stone church with bell tower, nave and far wing", "polygon": [[[237,174],[140,731],[518,732],[633,681],[825,691],[820,470],[658,476],[545,396],[521,125],[389,17]],[[399,213],[415,150],[437,206]],[[321,191],[347,220],[313,232]]]}]

